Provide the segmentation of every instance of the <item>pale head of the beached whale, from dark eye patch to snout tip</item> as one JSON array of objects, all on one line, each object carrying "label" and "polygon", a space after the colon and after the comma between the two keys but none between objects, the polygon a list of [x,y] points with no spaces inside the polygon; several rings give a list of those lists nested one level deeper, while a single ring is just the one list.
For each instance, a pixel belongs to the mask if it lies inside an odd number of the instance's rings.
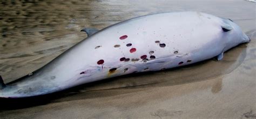
[{"label": "pale head of the beached whale, from dark eye patch to snout tip", "polygon": [[237,46],[240,43],[248,43],[251,39],[242,32],[241,28],[235,24],[231,19],[223,18],[221,28],[224,32],[225,41],[228,48]]}]

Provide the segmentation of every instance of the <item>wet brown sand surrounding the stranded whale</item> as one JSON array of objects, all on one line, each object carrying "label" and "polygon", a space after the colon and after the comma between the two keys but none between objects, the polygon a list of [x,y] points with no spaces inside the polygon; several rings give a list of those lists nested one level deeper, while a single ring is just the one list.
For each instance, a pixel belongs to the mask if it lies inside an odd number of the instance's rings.
[{"label": "wet brown sand surrounding the stranded whale", "polygon": [[232,19],[251,38],[222,61],[137,73],[19,100],[0,118],[256,118],[256,3],[232,1],[2,2],[0,74],[8,83],[102,29],[152,13],[200,11]]}]

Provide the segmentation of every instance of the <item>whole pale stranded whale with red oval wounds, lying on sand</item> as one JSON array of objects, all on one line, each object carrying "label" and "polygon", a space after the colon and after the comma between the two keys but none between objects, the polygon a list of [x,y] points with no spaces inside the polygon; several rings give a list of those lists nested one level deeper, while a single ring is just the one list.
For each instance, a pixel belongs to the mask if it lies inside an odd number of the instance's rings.
[{"label": "whole pale stranded whale with red oval wounds, lying on sand", "polygon": [[[1,98],[49,94],[92,81],[204,61],[250,42],[231,19],[171,12],[126,20],[89,37],[27,76],[4,84]],[[96,33],[95,33],[96,32]],[[94,34],[93,34],[94,33]]]}]

